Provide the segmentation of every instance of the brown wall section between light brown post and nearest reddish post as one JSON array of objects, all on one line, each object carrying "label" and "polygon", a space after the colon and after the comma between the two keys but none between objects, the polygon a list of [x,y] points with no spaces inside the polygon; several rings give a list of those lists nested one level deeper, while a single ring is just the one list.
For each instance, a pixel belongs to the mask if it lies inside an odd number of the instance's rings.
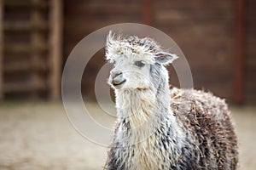
[{"label": "brown wall section between light brown post and nearest reddish post", "polygon": [[[121,22],[141,22],[141,4],[137,1],[64,1],[64,54],[92,31]],[[87,99],[94,99],[96,74],[104,65],[104,50],[94,55],[86,65],[82,79],[82,93]]]}]

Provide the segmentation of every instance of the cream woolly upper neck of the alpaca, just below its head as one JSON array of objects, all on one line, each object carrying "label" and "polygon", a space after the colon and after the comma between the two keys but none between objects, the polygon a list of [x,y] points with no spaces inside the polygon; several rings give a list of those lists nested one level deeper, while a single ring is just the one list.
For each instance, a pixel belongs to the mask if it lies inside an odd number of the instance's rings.
[{"label": "cream woolly upper neck of the alpaca, just below its head", "polygon": [[128,121],[131,129],[152,133],[163,117],[171,116],[168,83],[159,88],[122,89],[116,91],[118,122]]}]

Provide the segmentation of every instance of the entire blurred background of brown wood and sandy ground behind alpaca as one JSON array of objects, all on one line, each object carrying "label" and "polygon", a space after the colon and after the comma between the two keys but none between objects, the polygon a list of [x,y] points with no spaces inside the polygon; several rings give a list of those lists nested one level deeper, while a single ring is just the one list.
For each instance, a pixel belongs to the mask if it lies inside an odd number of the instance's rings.
[{"label": "entire blurred background of brown wood and sandy ground behind alpaca", "polygon": [[[154,26],[177,42],[195,88],[232,105],[241,169],[254,169],[254,0],[0,0],[0,169],[101,169],[107,149],[67,121],[61,71],[82,38],[124,22]],[[84,70],[82,94],[92,111],[100,112],[94,82],[104,64],[102,49]],[[169,70],[178,86],[172,65]]]}]

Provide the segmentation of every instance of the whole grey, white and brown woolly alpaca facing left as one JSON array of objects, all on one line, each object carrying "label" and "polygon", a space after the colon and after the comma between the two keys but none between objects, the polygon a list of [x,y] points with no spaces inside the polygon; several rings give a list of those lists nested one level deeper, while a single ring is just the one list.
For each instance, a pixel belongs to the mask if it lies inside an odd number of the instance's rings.
[{"label": "whole grey, white and brown woolly alpaca facing left", "polygon": [[236,133],[224,100],[170,89],[165,66],[177,55],[151,38],[109,32],[106,58],[117,122],[105,169],[236,169]]}]

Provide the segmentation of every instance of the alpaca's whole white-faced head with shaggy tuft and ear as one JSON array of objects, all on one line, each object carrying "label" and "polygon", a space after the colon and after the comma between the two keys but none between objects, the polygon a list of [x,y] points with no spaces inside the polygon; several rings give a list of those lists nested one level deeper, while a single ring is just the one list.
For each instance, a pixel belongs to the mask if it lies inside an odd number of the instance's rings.
[{"label": "alpaca's whole white-faced head with shaggy tuft and ear", "polygon": [[108,83],[116,90],[157,89],[160,83],[168,83],[165,65],[177,59],[177,55],[166,53],[153,39],[115,36],[111,31],[106,57],[113,63]]}]

